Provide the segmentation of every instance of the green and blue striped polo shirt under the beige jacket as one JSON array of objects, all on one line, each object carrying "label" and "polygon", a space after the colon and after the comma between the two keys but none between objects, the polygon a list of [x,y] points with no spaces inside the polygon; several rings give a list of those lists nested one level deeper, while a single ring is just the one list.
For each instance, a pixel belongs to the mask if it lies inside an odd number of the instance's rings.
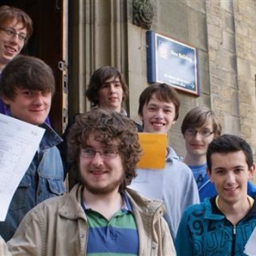
[{"label": "green and blue striped polo shirt under the beige jacket", "polygon": [[81,203],[89,225],[87,256],[139,255],[139,236],[133,209],[125,192],[121,195],[123,208],[110,220]]}]

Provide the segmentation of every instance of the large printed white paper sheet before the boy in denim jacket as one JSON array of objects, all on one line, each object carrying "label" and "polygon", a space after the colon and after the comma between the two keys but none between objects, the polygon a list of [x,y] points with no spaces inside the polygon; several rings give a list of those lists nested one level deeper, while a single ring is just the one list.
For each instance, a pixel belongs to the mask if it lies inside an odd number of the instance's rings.
[{"label": "large printed white paper sheet before the boy in denim jacket", "polygon": [[5,217],[45,129],[0,114],[0,221]]}]

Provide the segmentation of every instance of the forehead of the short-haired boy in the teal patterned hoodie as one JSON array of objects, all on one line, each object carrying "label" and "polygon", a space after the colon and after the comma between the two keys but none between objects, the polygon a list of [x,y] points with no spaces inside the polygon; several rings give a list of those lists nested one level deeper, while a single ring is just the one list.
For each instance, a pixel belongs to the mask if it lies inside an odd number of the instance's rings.
[{"label": "forehead of the short-haired boy in the teal patterned hoodie", "polygon": [[210,156],[212,169],[233,168],[235,166],[247,165],[246,155],[242,150],[229,153],[214,153]]}]

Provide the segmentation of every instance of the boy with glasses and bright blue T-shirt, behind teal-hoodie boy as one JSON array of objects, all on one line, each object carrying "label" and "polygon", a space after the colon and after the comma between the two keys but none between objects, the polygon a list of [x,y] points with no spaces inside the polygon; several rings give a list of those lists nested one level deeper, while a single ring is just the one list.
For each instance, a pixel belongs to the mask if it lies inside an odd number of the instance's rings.
[{"label": "boy with glasses and bright blue T-shirt, behind teal-hoodie boy", "polygon": [[[208,144],[221,134],[221,125],[215,114],[207,106],[197,106],[187,112],[181,124],[181,133],[184,136],[187,153],[183,162],[193,172],[197,182],[200,201],[217,194],[214,185],[207,175]],[[248,186],[249,195],[256,196],[256,187],[251,183]]]}]

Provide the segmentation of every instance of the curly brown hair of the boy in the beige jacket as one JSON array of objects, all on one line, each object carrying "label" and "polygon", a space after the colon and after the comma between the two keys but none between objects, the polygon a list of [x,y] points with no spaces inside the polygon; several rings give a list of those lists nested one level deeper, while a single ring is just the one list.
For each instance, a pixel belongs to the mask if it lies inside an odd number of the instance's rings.
[{"label": "curly brown hair of the boy in the beige jacket", "polygon": [[122,113],[100,108],[78,114],[68,136],[68,161],[71,172],[75,172],[77,177],[80,176],[80,148],[86,146],[91,133],[96,133],[96,140],[102,144],[119,143],[118,152],[124,169],[123,184],[119,187],[122,191],[136,176],[135,168],[142,152],[135,124]]}]

